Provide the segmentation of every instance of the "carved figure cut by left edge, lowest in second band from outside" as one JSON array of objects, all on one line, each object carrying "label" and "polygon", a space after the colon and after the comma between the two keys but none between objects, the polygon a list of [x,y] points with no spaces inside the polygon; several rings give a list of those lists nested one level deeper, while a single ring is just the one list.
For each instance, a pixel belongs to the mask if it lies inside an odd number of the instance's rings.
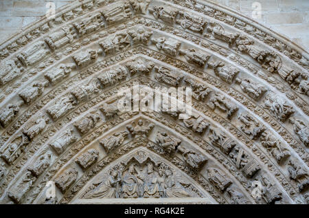
[{"label": "carved figure cut by left edge, lowest in second band from outside", "polygon": [[19,113],[19,108],[23,105],[23,101],[16,102],[16,104],[9,104],[0,111],[0,124],[2,127],[7,127],[10,122],[14,120]]}]

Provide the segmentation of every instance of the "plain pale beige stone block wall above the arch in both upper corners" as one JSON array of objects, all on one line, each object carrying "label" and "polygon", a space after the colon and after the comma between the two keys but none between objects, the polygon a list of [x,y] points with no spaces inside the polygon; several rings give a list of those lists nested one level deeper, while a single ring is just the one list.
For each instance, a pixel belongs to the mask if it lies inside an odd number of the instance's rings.
[{"label": "plain pale beige stone block wall above the arch in both upper corners", "polygon": [[[56,8],[78,0],[0,0],[0,43],[45,15],[47,2]],[[259,2],[262,23],[295,43],[309,48],[309,0],[210,0],[252,17],[252,3]]]}]

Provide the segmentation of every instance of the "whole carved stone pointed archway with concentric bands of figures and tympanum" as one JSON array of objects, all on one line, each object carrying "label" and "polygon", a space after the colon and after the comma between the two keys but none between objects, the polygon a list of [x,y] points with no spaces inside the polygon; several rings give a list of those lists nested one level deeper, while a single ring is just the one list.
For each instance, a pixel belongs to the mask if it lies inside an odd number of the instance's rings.
[{"label": "whole carved stone pointed archway with concentric bands of figures and tympanum", "polygon": [[308,204],[308,57],[207,1],[70,3],[0,45],[0,202]]}]

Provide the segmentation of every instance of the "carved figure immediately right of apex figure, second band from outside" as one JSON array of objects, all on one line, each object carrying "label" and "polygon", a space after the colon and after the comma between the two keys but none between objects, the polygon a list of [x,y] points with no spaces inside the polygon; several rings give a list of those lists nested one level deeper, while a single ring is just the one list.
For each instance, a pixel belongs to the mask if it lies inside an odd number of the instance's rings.
[{"label": "carved figure immediately right of apex figure, second band from outside", "polygon": [[166,54],[170,54],[170,56],[176,56],[179,47],[181,46],[181,43],[179,43],[179,41],[171,38],[165,39],[164,37],[159,37],[152,38],[150,39],[150,41],[156,45],[158,50],[163,50],[163,52],[165,52]]}]

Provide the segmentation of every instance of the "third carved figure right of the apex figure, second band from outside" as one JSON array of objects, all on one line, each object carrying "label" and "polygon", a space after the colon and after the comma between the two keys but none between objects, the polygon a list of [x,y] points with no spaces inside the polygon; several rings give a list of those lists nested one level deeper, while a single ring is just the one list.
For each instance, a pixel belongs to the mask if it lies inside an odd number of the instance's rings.
[{"label": "third carved figure right of the apex figure, second band from outside", "polygon": [[214,69],[216,76],[219,76],[226,83],[231,84],[234,77],[239,73],[239,70],[232,65],[226,65],[222,61],[212,61],[208,63],[209,67]]}]

